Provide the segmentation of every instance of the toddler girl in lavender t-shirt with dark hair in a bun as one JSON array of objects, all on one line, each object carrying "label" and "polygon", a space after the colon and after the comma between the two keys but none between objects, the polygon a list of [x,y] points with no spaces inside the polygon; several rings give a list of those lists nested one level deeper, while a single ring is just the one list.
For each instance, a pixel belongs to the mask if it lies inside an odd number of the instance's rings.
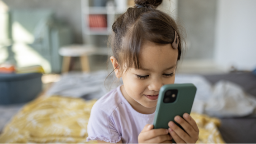
[{"label": "toddler girl in lavender t-shirt with dark hair in a bun", "polygon": [[175,20],[155,9],[162,0],[135,0],[113,24],[110,60],[123,85],[100,98],[91,110],[87,141],[98,144],[195,144],[199,129],[189,114],[169,129],[153,129],[158,93],[173,84],[182,37]]}]

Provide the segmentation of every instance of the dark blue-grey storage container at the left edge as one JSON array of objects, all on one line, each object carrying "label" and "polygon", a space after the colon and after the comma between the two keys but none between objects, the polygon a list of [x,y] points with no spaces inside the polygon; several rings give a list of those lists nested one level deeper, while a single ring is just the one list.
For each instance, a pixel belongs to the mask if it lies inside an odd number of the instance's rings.
[{"label": "dark blue-grey storage container at the left edge", "polygon": [[33,100],[42,91],[42,74],[0,73],[0,105]]}]

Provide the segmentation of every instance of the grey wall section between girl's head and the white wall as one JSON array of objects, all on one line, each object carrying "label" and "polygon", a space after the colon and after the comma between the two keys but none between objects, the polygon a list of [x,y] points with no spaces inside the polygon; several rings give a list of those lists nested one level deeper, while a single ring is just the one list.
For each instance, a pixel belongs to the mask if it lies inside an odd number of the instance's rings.
[{"label": "grey wall section between girl's head and the white wall", "polygon": [[217,0],[179,0],[178,19],[187,33],[185,59],[213,59]]}]

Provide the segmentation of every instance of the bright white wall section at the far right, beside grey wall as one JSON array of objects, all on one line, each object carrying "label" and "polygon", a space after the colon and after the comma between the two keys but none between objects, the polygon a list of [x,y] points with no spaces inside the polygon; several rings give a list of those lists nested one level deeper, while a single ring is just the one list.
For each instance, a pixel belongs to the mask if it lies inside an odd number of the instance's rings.
[{"label": "bright white wall section at the far right, beside grey wall", "polygon": [[214,61],[240,70],[256,68],[256,0],[218,0]]}]

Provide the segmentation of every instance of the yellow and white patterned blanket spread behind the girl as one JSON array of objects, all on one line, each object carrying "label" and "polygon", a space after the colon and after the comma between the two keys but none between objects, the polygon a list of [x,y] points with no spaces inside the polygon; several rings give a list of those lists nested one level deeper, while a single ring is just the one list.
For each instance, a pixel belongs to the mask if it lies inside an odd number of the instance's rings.
[{"label": "yellow and white patterned blanket spread behind the girl", "polygon": [[[5,126],[1,144],[97,144],[86,142],[90,110],[96,101],[41,97],[28,103]],[[199,126],[197,144],[225,144],[217,126],[220,121],[191,114]]]}]

